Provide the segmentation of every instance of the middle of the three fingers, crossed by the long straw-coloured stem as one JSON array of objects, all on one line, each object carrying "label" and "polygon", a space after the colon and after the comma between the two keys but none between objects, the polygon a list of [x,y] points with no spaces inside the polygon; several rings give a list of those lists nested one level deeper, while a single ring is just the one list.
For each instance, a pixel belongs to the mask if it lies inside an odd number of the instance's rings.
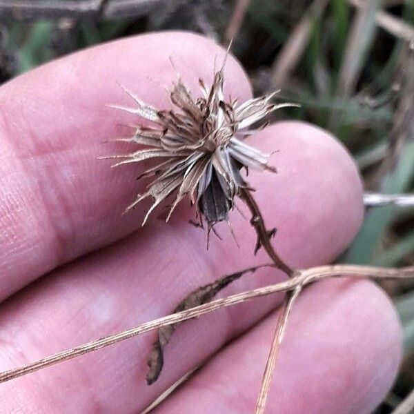
[{"label": "middle of the three fingers, crossed by the long straw-coloured stem", "polygon": [[[252,175],[250,180],[268,225],[279,227],[274,241],[282,257],[301,267],[333,259],[362,219],[361,184],[353,161],[330,135],[306,124],[278,124],[256,139],[263,147],[280,148],[273,159],[279,174]],[[170,223],[151,221],[139,235],[15,295],[0,312],[0,368],[166,315],[191,290],[251,266],[255,233],[237,212],[231,221],[239,249],[228,229],[220,228],[223,241],[212,239],[207,252],[206,233],[189,226],[181,210]],[[265,260],[260,252],[257,262]],[[236,282],[226,294],[276,281],[274,270],[263,270]],[[146,355],[154,335],[1,384],[1,400],[11,409],[19,394],[21,404],[46,412],[59,411],[63,404],[68,411],[85,412],[144,408],[278,303],[279,297],[268,297],[184,324],[166,348],[161,377],[150,387],[145,382]],[[54,397],[44,399],[43,393]],[[68,400],[67,395],[77,397]]]}]

